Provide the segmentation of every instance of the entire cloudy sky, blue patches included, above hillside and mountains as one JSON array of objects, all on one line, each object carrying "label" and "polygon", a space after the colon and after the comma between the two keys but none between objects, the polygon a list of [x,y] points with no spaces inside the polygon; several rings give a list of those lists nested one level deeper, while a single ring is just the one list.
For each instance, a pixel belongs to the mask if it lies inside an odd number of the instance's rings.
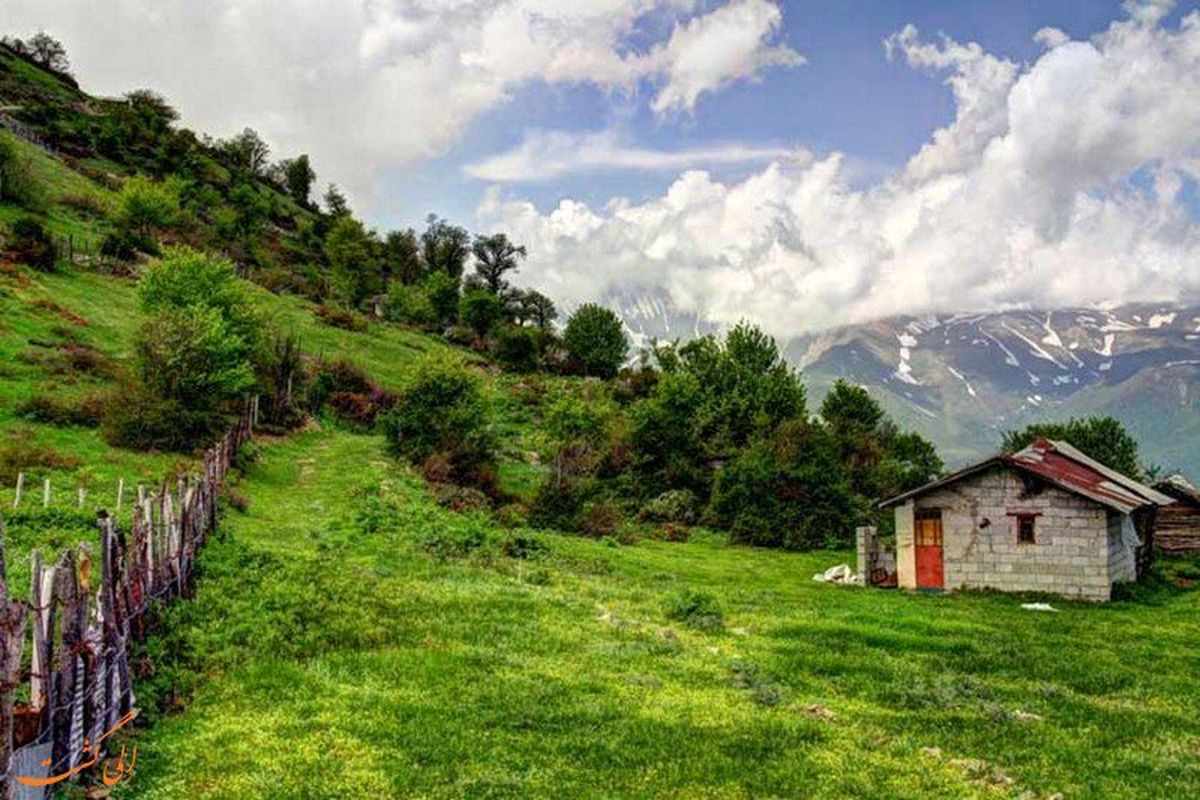
[{"label": "entire cloudy sky, blue patches included, above hillside and mountains", "polygon": [[1200,0],[0,0],[379,230],[799,335],[1200,297]]}]

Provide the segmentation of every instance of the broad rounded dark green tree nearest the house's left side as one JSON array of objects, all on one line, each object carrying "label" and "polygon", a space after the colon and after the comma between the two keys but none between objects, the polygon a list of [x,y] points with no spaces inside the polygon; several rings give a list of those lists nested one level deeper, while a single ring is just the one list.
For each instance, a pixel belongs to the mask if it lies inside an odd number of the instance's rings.
[{"label": "broad rounded dark green tree nearest the house's left side", "polygon": [[716,474],[710,512],[734,541],[760,547],[846,547],[854,500],[838,443],[820,425],[790,420]]}]

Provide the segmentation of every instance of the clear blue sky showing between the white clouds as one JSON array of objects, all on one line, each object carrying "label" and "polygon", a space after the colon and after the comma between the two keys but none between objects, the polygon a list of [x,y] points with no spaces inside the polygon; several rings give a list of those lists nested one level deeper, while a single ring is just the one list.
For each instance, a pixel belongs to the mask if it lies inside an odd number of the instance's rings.
[{"label": "clear blue sky showing between the white clouds", "polygon": [[[1168,22],[1177,23],[1195,5],[1178,6]],[[862,162],[862,180],[874,180],[901,168],[955,110],[943,74],[887,59],[888,35],[913,24],[926,35],[943,32],[1027,62],[1044,50],[1033,40],[1039,29],[1054,26],[1082,40],[1120,13],[1120,4],[1106,0],[821,0],[780,6],[780,38],[806,59],[804,66],[768,70],[756,82],[706,95],[692,114],[665,119],[648,108],[647,91],[629,96],[587,85],[529,84],[474,122],[446,155],[388,170],[372,217],[383,227],[419,225],[431,211],[470,221],[487,181],[464,175],[462,167],[516,146],[528,130],[616,128],[631,143],[666,150],[725,142],[804,145],[842,151]],[[738,178],[754,168],[712,172]],[[614,196],[643,200],[660,194],[676,176],[601,172],[530,182],[520,193],[544,207],[568,197],[604,205]],[[1190,194],[1193,207],[1200,209],[1194,191]]]}]

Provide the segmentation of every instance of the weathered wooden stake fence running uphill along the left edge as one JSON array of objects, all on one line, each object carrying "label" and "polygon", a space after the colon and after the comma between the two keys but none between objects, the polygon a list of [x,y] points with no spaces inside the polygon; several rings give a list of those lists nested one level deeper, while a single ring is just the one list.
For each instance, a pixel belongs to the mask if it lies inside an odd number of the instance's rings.
[{"label": "weathered wooden stake fence running uphill along the left edge", "polygon": [[[127,535],[98,512],[98,565],[88,543],[54,564],[35,552],[28,601],[10,596],[0,524],[0,796],[43,798],[47,789],[16,778],[79,766],[92,757],[85,742],[98,742],[133,709],[131,651],[148,633],[150,601],[191,594],[196,555],[217,523],[221,482],[251,437],[257,405],[247,401],[238,425],[205,451],[198,477],[139,491]],[[25,680],[29,700],[16,703]]]}]

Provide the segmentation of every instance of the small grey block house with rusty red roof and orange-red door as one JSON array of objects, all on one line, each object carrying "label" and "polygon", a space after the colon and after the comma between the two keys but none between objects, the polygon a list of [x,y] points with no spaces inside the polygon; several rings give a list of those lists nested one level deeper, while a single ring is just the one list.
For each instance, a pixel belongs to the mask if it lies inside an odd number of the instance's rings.
[{"label": "small grey block house with rusty red roof and orange-red door", "polygon": [[1148,564],[1170,498],[1038,439],[884,500],[895,509],[895,575],[907,589],[1045,591],[1109,600]]}]

